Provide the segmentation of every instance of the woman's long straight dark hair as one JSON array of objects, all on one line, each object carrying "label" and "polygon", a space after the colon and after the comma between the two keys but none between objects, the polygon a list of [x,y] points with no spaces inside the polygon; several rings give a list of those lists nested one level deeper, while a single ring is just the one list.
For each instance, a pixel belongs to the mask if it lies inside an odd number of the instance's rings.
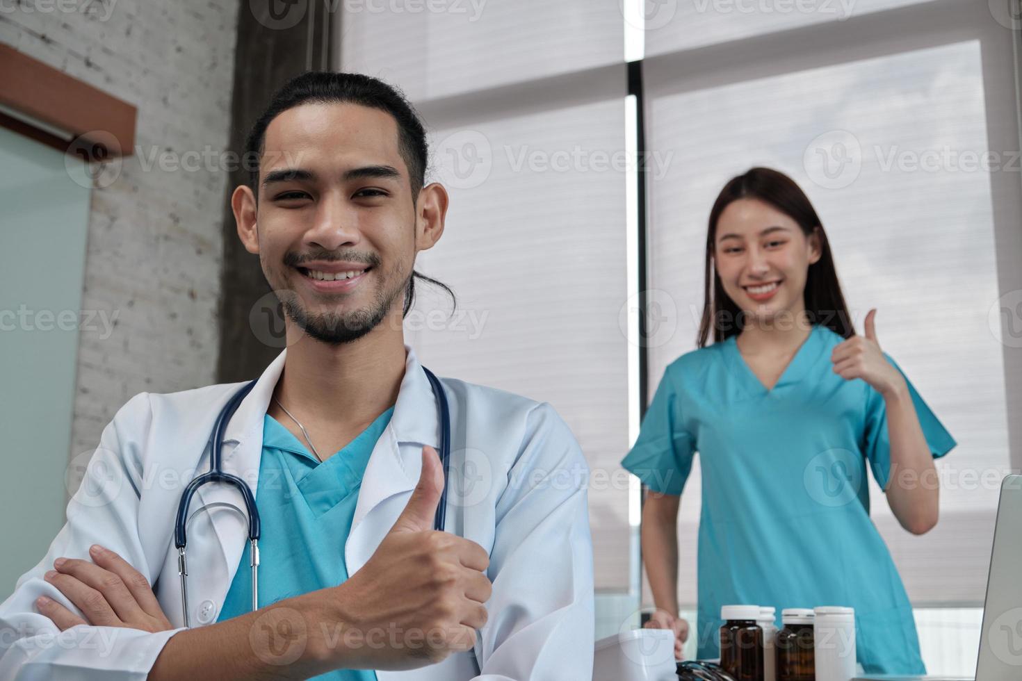
[{"label": "woman's long straight dark hair", "polygon": [[745,314],[735,301],[724,292],[721,277],[713,263],[716,241],[716,224],[721,213],[731,203],[743,198],[754,198],[769,203],[785,213],[802,229],[808,238],[814,233],[820,239],[820,259],[809,265],[805,278],[805,311],[809,322],[829,328],[842,338],[855,335],[848,308],[841,294],[841,284],[837,280],[834,257],[830,242],[817,211],[805,193],[795,181],[769,167],[753,167],[737,178],[732,178],[721,190],[721,194],[709,212],[709,229],[706,232],[706,272],[704,277],[704,303],[702,321],[699,324],[699,347],[706,347],[710,331],[713,342],[718,343],[731,336],[737,336],[744,327]]}]

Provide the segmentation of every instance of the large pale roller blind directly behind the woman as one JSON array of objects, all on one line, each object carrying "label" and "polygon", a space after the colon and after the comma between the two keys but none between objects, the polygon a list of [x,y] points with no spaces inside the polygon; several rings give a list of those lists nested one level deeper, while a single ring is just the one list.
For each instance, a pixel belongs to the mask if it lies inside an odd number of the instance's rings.
[{"label": "large pale roller blind directly behind the woman", "polygon": [[[1017,248],[1022,217],[1010,36],[985,7],[940,7],[925,47],[898,50],[896,26],[858,35],[849,25],[816,52],[765,45],[776,62],[757,63],[758,77],[694,59],[699,77],[686,78],[671,67],[685,62],[678,55],[646,78],[649,146],[679,159],[650,191],[650,287],[678,312],[650,348],[649,396],[666,364],[695,348],[717,192],[752,165],[787,173],[827,229],[858,332],[877,307],[881,346],[959,442],[938,463],[941,519],[922,537],[897,525],[871,481],[874,522],[916,604],[983,600],[1011,468],[1006,370],[1019,359],[1002,342],[1019,302],[1010,282],[1020,253],[1004,248]],[[696,601],[699,504],[697,457],[682,497],[683,603]]]}]

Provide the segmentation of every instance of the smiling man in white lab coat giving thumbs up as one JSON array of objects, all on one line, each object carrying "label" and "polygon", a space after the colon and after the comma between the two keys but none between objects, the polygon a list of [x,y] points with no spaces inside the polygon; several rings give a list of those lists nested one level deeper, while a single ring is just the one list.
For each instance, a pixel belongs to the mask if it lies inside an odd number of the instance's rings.
[{"label": "smiling man in white lab coat giving thumbs up", "polygon": [[[218,621],[249,549],[244,519],[215,505],[189,526],[186,628],[175,514],[243,384],[140,393],[103,431],[46,556],[0,604],[0,679],[590,679],[588,468],[549,404],[440,380],[454,445],[447,532],[433,530],[440,419],[402,319],[448,195],[424,186],[414,110],[374,79],[306,74],[247,147],[259,168],[232,206],[282,298],[287,348],[230,420],[222,467],[269,503],[267,415],[323,465],[392,406],[335,528],[349,577]],[[241,505],[206,485],[192,510],[224,502]],[[261,587],[291,567],[264,555]]]}]

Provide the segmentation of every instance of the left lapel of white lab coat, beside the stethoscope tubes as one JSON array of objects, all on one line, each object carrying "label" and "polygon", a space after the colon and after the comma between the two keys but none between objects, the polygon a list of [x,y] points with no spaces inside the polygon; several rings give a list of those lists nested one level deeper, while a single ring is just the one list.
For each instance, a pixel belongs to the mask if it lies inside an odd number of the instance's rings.
[{"label": "left lapel of white lab coat, beside the stethoscope tubes", "polygon": [[[259,490],[264,418],[267,407],[270,405],[274,388],[283,371],[285,354],[286,350],[277,355],[263,372],[251,391],[245,395],[237,411],[234,412],[224,433],[221,468],[225,473],[230,473],[245,481],[251,488],[252,496],[256,496]],[[233,394],[234,391],[231,391],[222,400],[223,404],[226,404]],[[223,404],[221,404],[221,408]],[[210,470],[211,454],[212,434],[202,460],[196,470],[196,475]],[[211,483],[202,485],[195,491],[195,498],[192,500],[189,514],[205,504],[218,502],[231,503],[244,510],[241,496],[232,486]],[[213,525],[212,533],[208,532],[211,522]],[[241,561],[247,537],[246,519],[229,508],[213,508],[208,514],[207,521],[196,517],[195,522],[189,526],[188,572],[201,575],[204,571],[208,571],[204,573],[202,579],[188,580],[189,605],[193,611],[190,614],[192,625],[196,624],[196,616],[202,602],[212,600],[214,603],[222,603],[224,601],[231,580],[238,568],[238,563]],[[216,546],[212,545],[214,543]],[[205,561],[199,563],[200,558],[208,558],[210,562],[208,564]],[[197,623],[211,624],[211,622],[201,621]]]}]

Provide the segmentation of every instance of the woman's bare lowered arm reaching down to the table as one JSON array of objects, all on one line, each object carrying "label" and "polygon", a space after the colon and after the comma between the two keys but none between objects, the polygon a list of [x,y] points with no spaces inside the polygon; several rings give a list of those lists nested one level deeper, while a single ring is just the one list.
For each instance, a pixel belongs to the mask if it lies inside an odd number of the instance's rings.
[{"label": "woman's bare lowered arm reaching down to the table", "polygon": [[642,557],[657,612],[651,626],[675,630],[675,654],[681,658],[689,625],[678,617],[678,506],[682,497],[646,493],[642,510]]}]

